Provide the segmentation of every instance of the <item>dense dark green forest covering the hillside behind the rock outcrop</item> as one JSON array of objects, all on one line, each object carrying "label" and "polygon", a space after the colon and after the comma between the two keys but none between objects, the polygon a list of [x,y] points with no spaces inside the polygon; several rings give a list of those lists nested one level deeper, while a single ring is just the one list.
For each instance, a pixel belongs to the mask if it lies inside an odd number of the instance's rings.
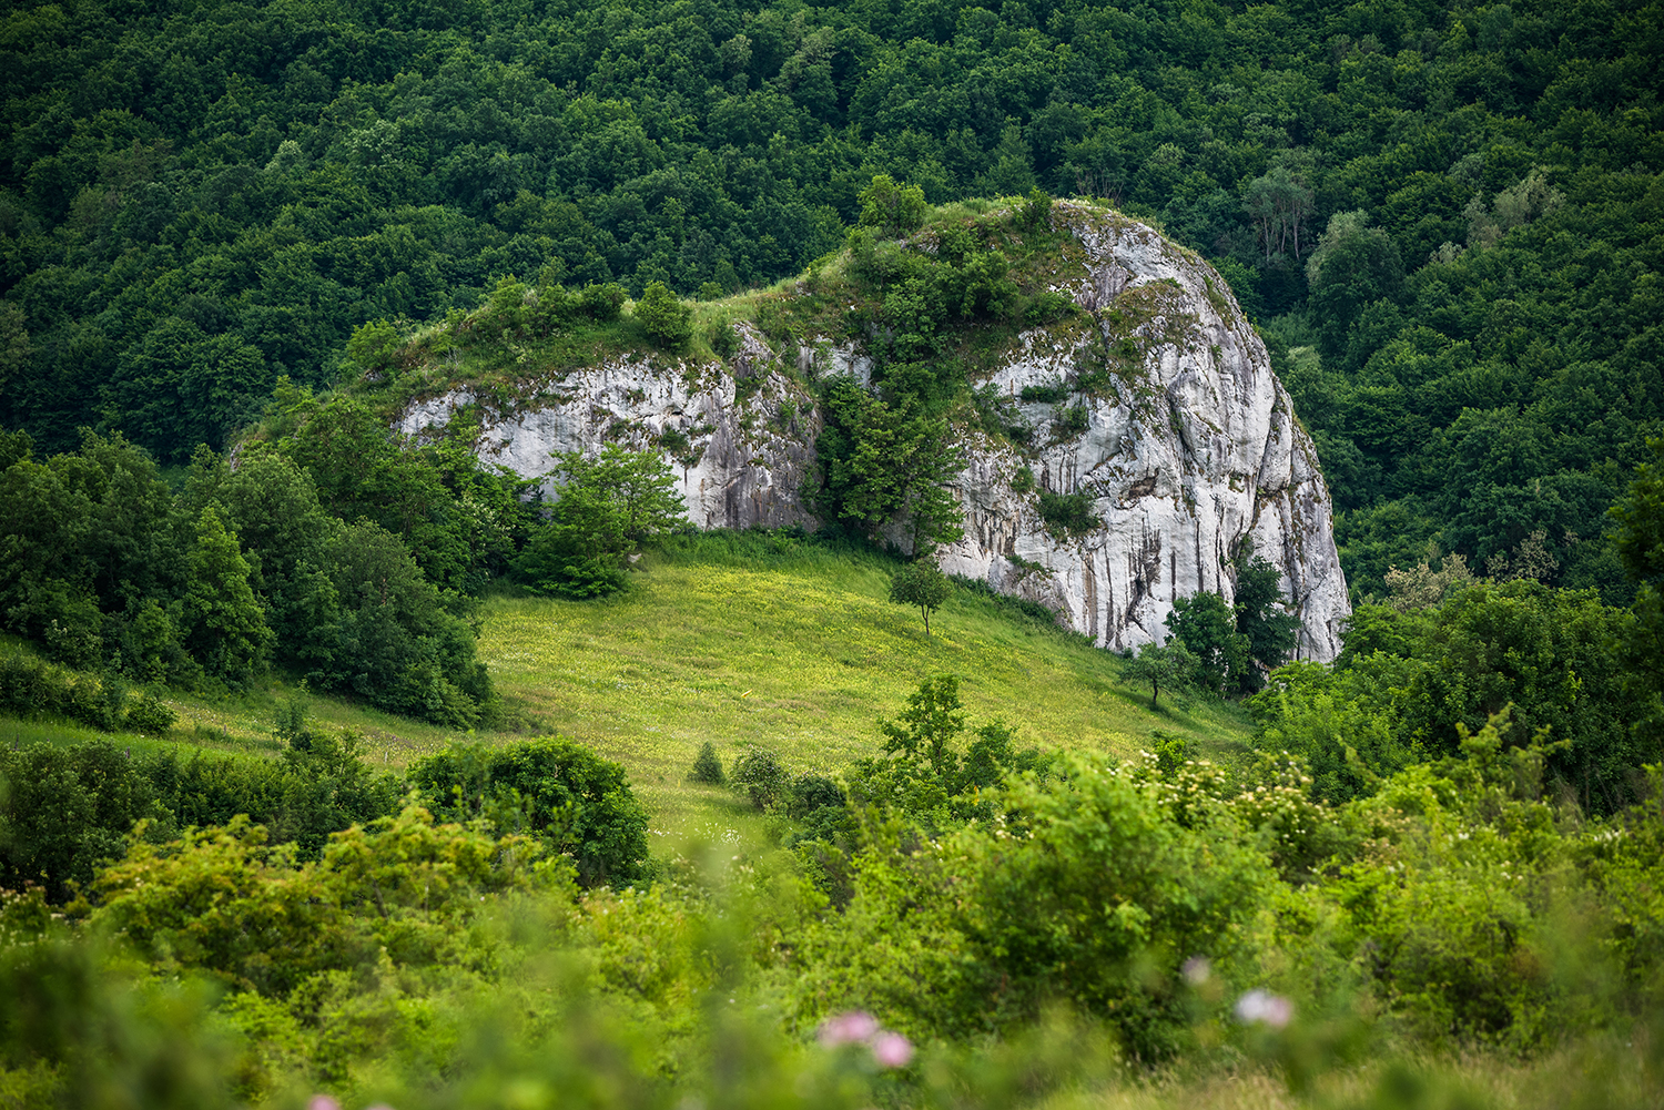
[{"label": "dense dark green forest covering the hillside behind the rock outcrop", "polygon": [[927,203],[1108,196],[1271,339],[1381,594],[1429,539],[1624,602],[1659,431],[1656,2],[13,10],[0,419],[223,443],[498,278],[714,296]]}]

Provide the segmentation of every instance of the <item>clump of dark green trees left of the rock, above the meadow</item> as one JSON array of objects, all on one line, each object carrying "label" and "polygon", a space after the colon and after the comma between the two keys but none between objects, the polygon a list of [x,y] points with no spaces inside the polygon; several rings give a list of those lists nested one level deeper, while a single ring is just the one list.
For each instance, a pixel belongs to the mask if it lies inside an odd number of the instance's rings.
[{"label": "clump of dark green trees left of the rock, above the meadow", "polygon": [[524,483],[404,444],[351,401],[285,398],[280,446],[235,469],[201,448],[178,491],[118,434],[42,461],[7,434],[5,629],[118,682],[225,689],[276,666],[393,712],[493,721],[473,594],[536,523]]}]

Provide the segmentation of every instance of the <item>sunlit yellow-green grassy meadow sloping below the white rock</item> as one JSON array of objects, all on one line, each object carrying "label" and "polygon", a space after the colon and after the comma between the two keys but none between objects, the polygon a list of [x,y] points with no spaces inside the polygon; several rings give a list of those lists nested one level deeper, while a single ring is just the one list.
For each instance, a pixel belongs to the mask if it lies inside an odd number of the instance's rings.
[{"label": "sunlit yellow-green grassy meadow sloping below the white rock", "polygon": [[[925,636],[917,609],[885,599],[895,566],[779,534],[674,538],[642,559],[619,597],[489,599],[479,654],[513,712],[622,762],[654,829],[676,837],[721,840],[760,827],[734,792],[687,782],[704,741],[726,766],[745,744],[760,744],[792,771],[835,776],[879,752],[877,719],[900,712],[932,674],[960,677],[972,727],[1002,717],[1023,744],[1043,749],[1125,757],[1163,731],[1213,759],[1246,751],[1250,726],[1238,707],[1163,697],[1151,712],[1148,689],[1120,681],[1118,657],[1007,599],[955,589]],[[464,739],[268,679],[220,697],[168,692],[180,717],[168,742],[276,756],[276,711],[295,696],[306,699],[316,726],[359,732],[376,769],[398,771]],[[95,737],[155,744],[73,724],[0,721],[0,744]],[[483,731],[474,739],[506,744],[518,736]]]}]

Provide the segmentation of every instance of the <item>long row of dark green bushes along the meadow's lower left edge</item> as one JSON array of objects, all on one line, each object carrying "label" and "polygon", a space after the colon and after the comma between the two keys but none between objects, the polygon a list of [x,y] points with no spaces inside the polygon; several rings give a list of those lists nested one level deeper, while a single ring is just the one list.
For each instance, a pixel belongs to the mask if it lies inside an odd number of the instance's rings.
[{"label": "long row of dark green bushes along the meadow's lower left edge", "polygon": [[[562,855],[586,887],[649,877],[647,815],[624,769],[562,737],[454,746],[403,774],[373,771],[363,739],[278,712],[280,759],[108,741],[0,751],[0,900],[38,889],[55,905],[92,894],[100,869],[195,829],[256,827],[258,844],[314,862],[349,827],[423,804],[443,820],[518,835]],[[97,900],[97,895],[93,895]]]}]

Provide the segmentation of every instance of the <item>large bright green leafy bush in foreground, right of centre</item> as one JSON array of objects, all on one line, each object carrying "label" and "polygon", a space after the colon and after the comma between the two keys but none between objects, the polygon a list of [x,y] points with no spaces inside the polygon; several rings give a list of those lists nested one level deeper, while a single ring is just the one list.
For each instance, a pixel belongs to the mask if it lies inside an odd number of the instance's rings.
[{"label": "large bright green leafy bush in foreground, right of centre", "polygon": [[[920,694],[920,724],[937,706]],[[1181,954],[1226,959],[1275,877],[1223,814],[1185,827],[1168,819],[1161,784],[1090,757],[1057,769],[997,795],[1015,824],[929,845],[904,827],[875,830],[847,910],[809,939],[812,1012],[869,1007],[919,1037],[977,1037],[1063,995],[1135,1058],[1173,1053],[1188,1028],[1171,985]]]}]

